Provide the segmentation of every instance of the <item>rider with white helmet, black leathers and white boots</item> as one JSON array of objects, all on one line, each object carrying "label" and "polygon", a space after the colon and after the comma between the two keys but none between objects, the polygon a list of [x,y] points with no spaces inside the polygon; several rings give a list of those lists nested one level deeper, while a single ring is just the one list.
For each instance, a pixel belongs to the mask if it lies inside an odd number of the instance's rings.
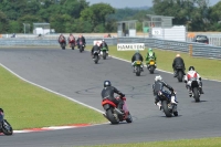
[{"label": "rider with white helmet, black leathers and white boots", "polygon": [[[159,97],[158,93],[160,91],[162,94],[168,95],[167,93],[164,92],[165,86],[173,94],[175,90],[170,85],[165,83],[160,75],[156,76],[155,83],[152,84],[152,93],[154,93],[154,96],[155,96],[155,105],[159,106],[160,111],[161,111],[161,103],[160,103],[160,97]],[[170,97],[171,97],[171,95],[170,95]],[[171,103],[175,103],[175,104],[178,103],[177,99],[176,99],[176,96],[175,97],[172,96]]]}]

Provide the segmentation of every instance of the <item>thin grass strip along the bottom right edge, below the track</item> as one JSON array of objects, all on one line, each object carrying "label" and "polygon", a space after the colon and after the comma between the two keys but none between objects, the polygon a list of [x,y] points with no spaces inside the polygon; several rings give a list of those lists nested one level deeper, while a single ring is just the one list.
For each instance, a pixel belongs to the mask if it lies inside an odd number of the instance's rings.
[{"label": "thin grass strip along the bottom right edge, below the track", "polygon": [[150,141],[150,143],[138,143],[138,144],[113,144],[113,145],[98,145],[90,147],[220,147],[220,146],[221,146],[221,137],[170,140],[170,141]]}]

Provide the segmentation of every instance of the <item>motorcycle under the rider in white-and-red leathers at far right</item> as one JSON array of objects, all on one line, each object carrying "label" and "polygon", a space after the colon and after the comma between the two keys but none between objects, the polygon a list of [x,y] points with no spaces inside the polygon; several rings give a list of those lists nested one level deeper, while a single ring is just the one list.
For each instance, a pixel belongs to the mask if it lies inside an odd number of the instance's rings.
[{"label": "motorcycle under the rider in white-and-red leathers at far right", "polygon": [[191,82],[191,91],[192,91],[192,97],[196,102],[200,102],[200,90],[201,87],[198,84],[197,78],[192,80]]}]

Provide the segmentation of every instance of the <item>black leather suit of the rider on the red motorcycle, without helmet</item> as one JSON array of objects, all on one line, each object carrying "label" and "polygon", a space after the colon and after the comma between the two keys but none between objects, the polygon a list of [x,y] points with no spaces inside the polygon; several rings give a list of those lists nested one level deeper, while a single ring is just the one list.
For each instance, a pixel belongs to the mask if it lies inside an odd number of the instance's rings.
[{"label": "black leather suit of the rider on the red motorcycle, without helmet", "polygon": [[114,102],[119,108],[122,108],[122,106],[123,106],[123,101],[122,99],[116,99],[115,97],[114,97],[114,94],[118,94],[118,95],[120,95],[122,97],[124,97],[125,95],[120,92],[120,91],[118,91],[116,87],[114,87],[114,86],[107,86],[107,87],[104,87],[103,88],[103,91],[102,91],[102,98],[104,99],[104,98],[107,98],[107,99],[109,99],[109,101],[112,101],[112,102]]}]

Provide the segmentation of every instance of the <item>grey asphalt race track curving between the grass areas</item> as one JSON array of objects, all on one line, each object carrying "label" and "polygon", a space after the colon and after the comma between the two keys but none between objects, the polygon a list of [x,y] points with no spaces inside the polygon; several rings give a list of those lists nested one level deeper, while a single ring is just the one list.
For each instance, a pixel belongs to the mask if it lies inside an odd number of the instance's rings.
[{"label": "grey asphalt race track curving between the grass areas", "polygon": [[[94,64],[88,52],[56,49],[0,49],[0,63],[23,78],[103,111],[103,81],[126,94],[134,123],[0,136],[4,147],[56,147],[139,143],[221,136],[221,83],[203,81],[201,103],[188,96],[185,83],[171,74],[145,69],[141,76],[130,64],[113,57]],[[160,63],[159,63],[160,64]],[[177,91],[178,117],[167,118],[154,105],[151,84],[161,75]],[[101,114],[102,115],[102,114]]]}]

